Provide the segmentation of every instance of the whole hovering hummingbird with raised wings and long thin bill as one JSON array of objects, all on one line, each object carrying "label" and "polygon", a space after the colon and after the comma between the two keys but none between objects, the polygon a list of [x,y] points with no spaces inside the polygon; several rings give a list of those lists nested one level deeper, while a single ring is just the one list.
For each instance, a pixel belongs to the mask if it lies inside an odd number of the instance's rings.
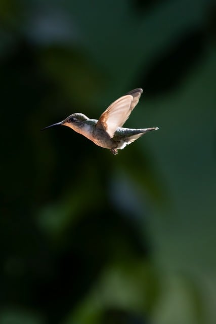
[{"label": "whole hovering hummingbird with raised wings and long thin bill", "polygon": [[41,131],[58,125],[67,126],[96,145],[109,148],[113,154],[117,154],[118,149],[123,149],[145,133],[158,130],[158,127],[142,129],[121,127],[138,104],[142,92],[143,89],[138,88],[118,98],[102,113],[99,120],[89,119],[82,113],[73,113],[60,123],[45,127]]}]

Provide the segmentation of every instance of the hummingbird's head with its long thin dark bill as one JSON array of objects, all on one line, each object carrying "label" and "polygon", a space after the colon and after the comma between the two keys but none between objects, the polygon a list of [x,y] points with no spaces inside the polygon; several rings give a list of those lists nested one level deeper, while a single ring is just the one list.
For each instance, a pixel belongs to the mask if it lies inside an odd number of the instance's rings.
[{"label": "hummingbird's head with its long thin dark bill", "polygon": [[[41,131],[44,131],[50,127],[54,127],[54,126],[67,126],[72,128],[74,131],[78,132],[85,124],[85,121],[87,121],[89,118],[85,115],[83,115],[82,113],[76,112],[73,113],[72,115],[68,116],[67,118],[65,118],[64,120],[60,121],[59,123],[47,126],[43,129],[41,129]],[[78,132],[79,133],[79,132]]]}]

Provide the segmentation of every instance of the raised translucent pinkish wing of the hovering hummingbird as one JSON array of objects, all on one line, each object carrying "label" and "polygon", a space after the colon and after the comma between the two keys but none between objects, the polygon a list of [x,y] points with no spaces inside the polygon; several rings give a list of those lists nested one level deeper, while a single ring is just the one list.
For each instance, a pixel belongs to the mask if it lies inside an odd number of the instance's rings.
[{"label": "raised translucent pinkish wing of the hovering hummingbird", "polygon": [[105,130],[110,138],[112,138],[117,127],[121,127],[125,123],[132,110],[138,104],[142,92],[143,89],[141,88],[132,90],[111,103],[100,116],[96,127]]}]

